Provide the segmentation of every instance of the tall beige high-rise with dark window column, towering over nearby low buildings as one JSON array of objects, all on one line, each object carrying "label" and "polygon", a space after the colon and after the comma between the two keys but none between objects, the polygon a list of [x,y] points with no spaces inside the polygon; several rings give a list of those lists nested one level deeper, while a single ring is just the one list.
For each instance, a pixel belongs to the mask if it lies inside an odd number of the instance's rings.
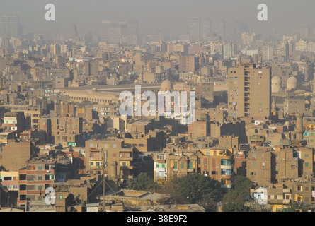
[{"label": "tall beige high-rise with dark window column, towering over nearby low buildings", "polygon": [[241,64],[228,71],[230,117],[270,117],[271,69]]}]

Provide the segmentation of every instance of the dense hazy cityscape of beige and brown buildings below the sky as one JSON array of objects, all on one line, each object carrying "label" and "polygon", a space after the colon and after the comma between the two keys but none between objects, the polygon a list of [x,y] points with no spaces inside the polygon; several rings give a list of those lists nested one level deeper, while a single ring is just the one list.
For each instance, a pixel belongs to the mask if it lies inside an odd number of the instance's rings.
[{"label": "dense hazy cityscape of beige and brown buildings below the sky", "polygon": [[[315,30],[187,22],[47,34],[0,16],[0,212],[315,210]],[[151,114],[121,114],[123,91]]]}]

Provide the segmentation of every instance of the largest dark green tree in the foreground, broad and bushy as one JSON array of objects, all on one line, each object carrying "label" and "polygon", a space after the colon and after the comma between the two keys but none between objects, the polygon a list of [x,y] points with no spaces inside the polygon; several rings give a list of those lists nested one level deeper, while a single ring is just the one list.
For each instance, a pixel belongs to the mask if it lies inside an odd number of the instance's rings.
[{"label": "largest dark green tree in the foreground, broad and bushy", "polygon": [[206,210],[214,210],[215,202],[221,200],[221,184],[201,174],[188,174],[171,179],[173,202],[200,204]]}]

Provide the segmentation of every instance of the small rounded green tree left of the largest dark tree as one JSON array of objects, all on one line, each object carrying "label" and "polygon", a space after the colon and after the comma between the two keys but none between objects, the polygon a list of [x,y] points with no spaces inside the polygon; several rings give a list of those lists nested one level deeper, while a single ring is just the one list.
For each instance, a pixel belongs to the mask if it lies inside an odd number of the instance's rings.
[{"label": "small rounded green tree left of the largest dark tree", "polygon": [[139,191],[147,191],[152,189],[159,189],[159,185],[156,184],[153,179],[151,179],[149,174],[141,172],[137,177],[132,179],[127,188]]}]

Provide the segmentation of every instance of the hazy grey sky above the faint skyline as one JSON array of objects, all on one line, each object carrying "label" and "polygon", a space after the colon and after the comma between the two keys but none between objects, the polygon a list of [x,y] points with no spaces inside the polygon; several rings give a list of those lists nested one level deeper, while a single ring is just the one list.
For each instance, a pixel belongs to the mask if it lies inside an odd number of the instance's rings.
[{"label": "hazy grey sky above the faint skyline", "polygon": [[[56,21],[45,20],[45,5],[55,4]],[[257,6],[268,6],[268,21],[257,20]],[[24,31],[65,31],[75,23],[79,33],[98,28],[101,20],[137,20],[146,34],[159,26],[175,34],[187,30],[188,18],[198,16],[247,22],[258,32],[290,32],[301,23],[315,22],[314,0],[1,0],[0,14],[17,14]]]}]

